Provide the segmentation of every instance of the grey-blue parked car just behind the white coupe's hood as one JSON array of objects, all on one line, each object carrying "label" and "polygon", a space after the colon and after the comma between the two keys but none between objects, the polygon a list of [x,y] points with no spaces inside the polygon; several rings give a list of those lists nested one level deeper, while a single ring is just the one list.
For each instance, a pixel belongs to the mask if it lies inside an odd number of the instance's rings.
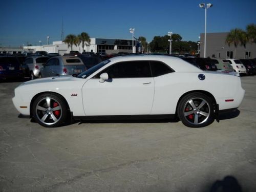
[{"label": "grey-blue parked car just behind the white coupe's hood", "polygon": [[86,70],[82,60],[75,56],[50,58],[40,69],[39,77],[79,74]]}]

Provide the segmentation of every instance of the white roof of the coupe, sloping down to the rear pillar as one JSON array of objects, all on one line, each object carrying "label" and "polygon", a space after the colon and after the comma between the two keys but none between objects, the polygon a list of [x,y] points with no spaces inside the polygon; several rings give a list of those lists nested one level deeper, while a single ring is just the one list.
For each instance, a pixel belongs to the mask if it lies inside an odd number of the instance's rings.
[{"label": "white roof of the coupe, sloping down to the rear pillar", "polygon": [[162,61],[176,72],[202,72],[201,69],[196,66],[182,60],[178,57],[166,56],[166,55],[130,55],[130,56],[118,56],[110,58],[113,62],[133,61],[133,60],[155,60]]}]

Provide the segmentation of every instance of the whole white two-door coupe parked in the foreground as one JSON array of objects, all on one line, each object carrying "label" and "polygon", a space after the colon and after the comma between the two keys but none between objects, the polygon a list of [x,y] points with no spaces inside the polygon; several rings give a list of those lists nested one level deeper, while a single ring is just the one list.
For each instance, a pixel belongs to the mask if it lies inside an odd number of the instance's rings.
[{"label": "whole white two-door coupe parked in the foreground", "polygon": [[[225,82],[225,83],[223,83]],[[202,71],[170,56],[120,56],[73,76],[24,82],[13,103],[46,127],[69,118],[171,118],[209,125],[219,111],[239,107],[245,91],[239,76]]]}]

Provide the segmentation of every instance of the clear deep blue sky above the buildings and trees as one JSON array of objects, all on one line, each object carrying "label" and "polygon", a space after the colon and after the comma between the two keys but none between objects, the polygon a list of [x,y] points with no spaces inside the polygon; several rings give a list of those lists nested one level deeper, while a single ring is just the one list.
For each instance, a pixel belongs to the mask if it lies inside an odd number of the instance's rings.
[{"label": "clear deep blue sky above the buildings and trees", "polygon": [[[182,40],[198,41],[204,33],[203,1],[197,0],[12,0],[1,1],[0,46],[19,47],[47,44],[64,37],[87,32],[90,37],[131,39],[164,36],[171,31]],[[207,33],[246,29],[256,24],[256,0],[209,0]]]}]

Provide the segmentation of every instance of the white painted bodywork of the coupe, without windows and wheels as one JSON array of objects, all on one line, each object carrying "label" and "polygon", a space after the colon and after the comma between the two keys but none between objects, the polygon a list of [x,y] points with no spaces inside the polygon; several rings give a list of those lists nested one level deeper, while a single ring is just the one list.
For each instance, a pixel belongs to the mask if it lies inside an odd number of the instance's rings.
[{"label": "white painted bodywork of the coupe, without windows and wheels", "polygon": [[[36,95],[54,92],[67,100],[74,116],[157,115],[175,114],[179,99],[191,91],[210,93],[220,110],[238,108],[244,97],[240,77],[202,71],[180,58],[143,55],[110,60],[84,79],[65,76],[27,81],[15,89],[13,103],[21,114],[30,115],[31,101]],[[148,78],[113,78],[103,83],[92,78],[114,63],[132,60],[162,61],[175,72]],[[204,74],[205,80],[200,80],[199,74]],[[233,101],[226,102],[226,99]]]}]

